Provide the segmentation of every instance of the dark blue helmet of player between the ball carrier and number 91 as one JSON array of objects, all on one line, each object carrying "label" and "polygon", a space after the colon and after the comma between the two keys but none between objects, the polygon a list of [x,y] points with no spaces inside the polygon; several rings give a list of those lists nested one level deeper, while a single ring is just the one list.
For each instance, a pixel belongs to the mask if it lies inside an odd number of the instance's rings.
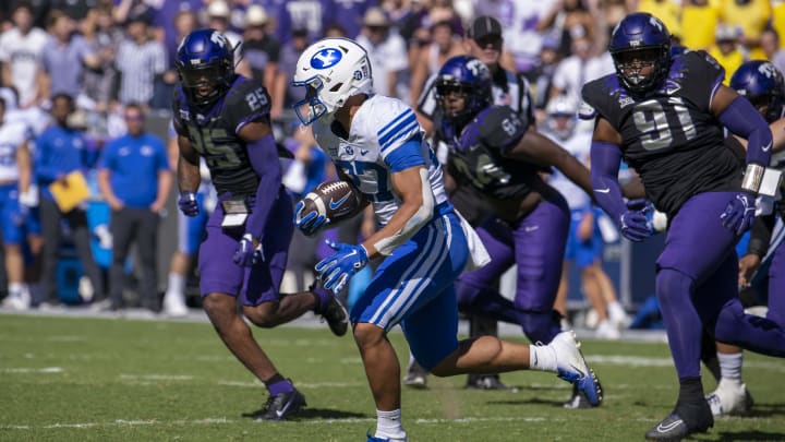
[{"label": "dark blue helmet of player between the ball carrier and number 91", "polygon": [[[493,103],[491,71],[480,60],[470,56],[456,56],[447,60],[439,69],[436,81],[436,100],[444,118],[462,124]],[[464,96],[463,110],[449,112],[445,99],[450,93]]]}]

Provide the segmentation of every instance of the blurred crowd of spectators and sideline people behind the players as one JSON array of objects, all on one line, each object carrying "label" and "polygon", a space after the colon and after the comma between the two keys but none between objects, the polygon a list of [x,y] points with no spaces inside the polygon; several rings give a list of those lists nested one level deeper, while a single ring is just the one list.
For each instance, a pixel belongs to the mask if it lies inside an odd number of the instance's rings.
[{"label": "blurred crowd of spectators and sideline people behind the players", "polygon": [[[587,136],[592,128],[573,118],[557,121],[558,117],[575,116],[584,83],[614,72],[606,50],[608,36],[616,23],[635,11],[659,16],[676,44],[708,50],[725,68],[726,80],[750,59],[768,59],[785,69],[785,52],[780,46],[780,36],[785,33],[785,1],[778,0],[0,2],[0,128],[12,123],[24,128],[25,135],[17,143],[24,143],[29,154],[27,166],[21,163],[27,171],[0,174],[0,188],[17,186],[20,206],[25,206],[20,212],[34,219],[14,218],[23,232],[20,238],[3,227],[8,299],[21,296],[21,301],[11,307],[49,306],[61,300],[55,273],[64,232],[80,255],[95,306],[106,307],[101,302],[112,290],[119,290],[112,283],[117,285],[117,275],[126,270],[129,248],[136,241],[140,250],[152,248],[135,260],[145,282],[138,289],[154,291],[141,294],[140,304],[153,312],[167,308],[170,313],[183,312],[182,302],[167,304],[158,299],[158,287],[167,286],[158,284],[156,253],[149,253],[158,246],[158,238],[143,234],[157,228],[159,220],[148,213],[161,213],[172,191],[177,152],[172,152],[172,143],[167,152],[164,141],[170,134],[147,126],[150,140],[142,147],[149,152],[142,152],[149,155],[141,153],[143,159],[133,159],[133,170],[124,170],[125,159],[118,162],[117,157],[125,155],[118,143],[122,144],[128,133],[145,131],[140,121],[170,119],[171,96],[178,83],[174,55],[178,43],[193,29],[224,32],[235,48],[238,72],[269,92],[276,139],[295,157],[285,183],[292,193],[302,195],[334,174],[291,111],[302,97],[290,87],[289,80],[302,50],[316,39],[357,39],[372,61],[375,89],[416,108],[427,79],[450,57],[468,52],[467,29],[473,19],[495,17],[504,41],[500,64],[528,80],[538,123],[567,143],[572,136]],[[12,163],[3,158],[16,152],[3,147],[9,142],[13,140],[0,140],[0,163]],[[63,153],[62,143],[74,153]],[[159,159],[146,162],[147,157]],[[17,157],[12,159],[19,162]],[[142,211],[117,216],[123,224],[114,226],[114,231],[125,236],[122,241],[114,238],[112,258],[96,259],[95,248],[90,249],[90,240],[105,248],[112,241],[104,232],[90,230],[94,223],[84,204],[64,211],[52,203],[49,186],[65,183],[74,170],[82,171],[88,181],[95,180],[90,200],[104,202],[113,216],[122,210]],[[25,174],[29,182],[23,182]],[[154,184],[137,189],[145,179]],[[35,192],[38,195],[27,198]],[[136,201],[135,206],[119,205],[118,194],[124,196],[122,201]],[[362,235],[367,228],[372,227],[359,219],[345,231],[330,235]],[[618,236],[614,239],[613,234],[606,234],[605,240],[618,240]],[[117,250],[118,243],[122,250]],[[298,288],[309,284],[306,273],[319,259],[318,243],[302,236],[292,242],[290,265]],[[182,273],[181,262],[172,265]],[[169,285],[180,291],[184,287],[182,277],[170,276]]]}]

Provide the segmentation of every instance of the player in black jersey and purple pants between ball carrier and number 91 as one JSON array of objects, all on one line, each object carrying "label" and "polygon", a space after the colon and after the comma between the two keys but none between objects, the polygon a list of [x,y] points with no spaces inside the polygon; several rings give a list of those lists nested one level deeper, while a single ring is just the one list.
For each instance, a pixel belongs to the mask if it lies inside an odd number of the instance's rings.
[{"label": "player in black jersey and purple pants between ball carrier and number 91", "polygon": [[[556,167],[591,194],[589,170],[550,139],[528,133],[526,114],[493,105],[491,72],[479,59],[447,60],[434,84],[442,114],[437,136],[449,151],[447,191],[471,187],[487,203],[491,215],[478,234],[493,259],[460,275],[458,307],[466,313],[519,324],[532,343],[547,344],[561,332],[554,301],[570,212],[541,172]],[[510,301],[493,284],[514,264],[518,273],[515,301]]]}]

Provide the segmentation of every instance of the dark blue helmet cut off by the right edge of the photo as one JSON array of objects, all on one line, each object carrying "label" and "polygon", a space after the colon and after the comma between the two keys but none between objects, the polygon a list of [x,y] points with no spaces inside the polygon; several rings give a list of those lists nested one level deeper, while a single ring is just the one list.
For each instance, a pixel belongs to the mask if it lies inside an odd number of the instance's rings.
[{"label": "dark blue helmet cut off by the right edge of the photo", "polygon": [[768,122],[780,119],[785,105],[785,82],[774,64],[750,60],[730,76],[730,88],[747,97]]}]

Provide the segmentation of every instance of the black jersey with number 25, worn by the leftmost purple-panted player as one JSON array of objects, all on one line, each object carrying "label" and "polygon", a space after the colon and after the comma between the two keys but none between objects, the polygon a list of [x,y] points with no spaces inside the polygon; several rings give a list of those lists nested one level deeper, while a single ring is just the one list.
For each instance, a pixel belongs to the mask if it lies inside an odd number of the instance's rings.
[{"label": "black jersey with number 25, worn by the leftmost purple-panted player", "polygon": [[218,194],[255,195],[258,177],[238,132],[269,115],[270,100],[261,85],[238,75],[226,95],[207,109],[190,108],[181,87],[174,91],[174,122],[185,129],[207,163]]}]

